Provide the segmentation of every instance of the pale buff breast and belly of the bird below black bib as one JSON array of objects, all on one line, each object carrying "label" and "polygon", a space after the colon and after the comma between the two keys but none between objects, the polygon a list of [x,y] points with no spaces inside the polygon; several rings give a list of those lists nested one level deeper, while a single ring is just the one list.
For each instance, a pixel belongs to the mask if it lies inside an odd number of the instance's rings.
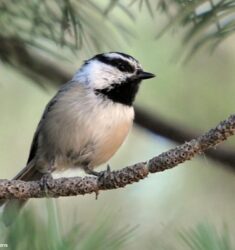
[{"label": "pale buff breast and belly of the bird below black bib", "polygon": [[[57,168],[72,167],[88,158],[92,167],[98,166],[123,143],[133,118],[133,107],[104,101],[91,90],[75,85],[60,97],[47,117],[47,151],[57,155]],[[67,157],[71,152],[75,159],[72,163]]]}]

